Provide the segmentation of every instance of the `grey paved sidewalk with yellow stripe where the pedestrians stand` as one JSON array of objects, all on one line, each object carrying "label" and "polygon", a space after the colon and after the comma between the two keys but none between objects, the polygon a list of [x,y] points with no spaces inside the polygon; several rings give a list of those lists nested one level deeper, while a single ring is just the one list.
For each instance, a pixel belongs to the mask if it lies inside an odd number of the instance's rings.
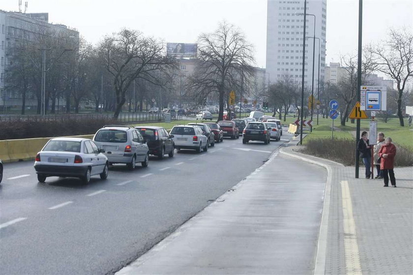
[{"label": "grey paved sidewalk with yellow stripe where the pedestrians stand", "polygon": [[293,150],[283,152],[331,168],[320,240],[327,238],[317,255],[324,269],[316,274],[413,274],[413,167],[396,167],[397,188],[383,187],[383,180],[355,179],[354,167]]}]

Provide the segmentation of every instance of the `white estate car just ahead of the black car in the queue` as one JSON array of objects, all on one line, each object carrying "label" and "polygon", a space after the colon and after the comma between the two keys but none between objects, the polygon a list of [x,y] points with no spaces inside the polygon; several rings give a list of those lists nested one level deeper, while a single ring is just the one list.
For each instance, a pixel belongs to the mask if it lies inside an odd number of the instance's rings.
[{"label": "white estate car just ahead of the black car in the queue", "polygon": [[201,127],[195,125],[178,125],[171,130],[172,138],[175,142],[175,148],[192,149],[197,153],[208,151],[208,138],[203,134]]}]

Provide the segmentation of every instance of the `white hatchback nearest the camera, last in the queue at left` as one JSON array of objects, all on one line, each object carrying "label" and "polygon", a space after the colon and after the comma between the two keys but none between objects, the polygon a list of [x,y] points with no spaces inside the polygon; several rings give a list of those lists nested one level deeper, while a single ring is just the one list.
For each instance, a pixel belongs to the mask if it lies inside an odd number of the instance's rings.
[{"label": "white hatchback nearest the camera, last in the queue at left", "polygon": [[53,138],[36,155],[37,180],[44,183],[47,177],[76,177],[89,183],[93,175],[100,175],[105,180],[109,162],[104,152],[90,139]]}]

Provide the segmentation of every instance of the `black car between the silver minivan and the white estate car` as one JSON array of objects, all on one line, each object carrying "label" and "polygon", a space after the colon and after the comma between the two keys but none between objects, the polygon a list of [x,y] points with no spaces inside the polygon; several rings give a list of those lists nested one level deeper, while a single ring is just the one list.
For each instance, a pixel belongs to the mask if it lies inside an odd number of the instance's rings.
[{"label": "black car between the silver minivan and the white estate car", "polygon": [[164,127],[136,126],[135,128],[146,140],[150,154],[157,155],[160,159],[162,159],[165,154],[168,154],[169,157],[174,156],[175,143],[172,140],[174,136],[168,134],[168,131]]}]

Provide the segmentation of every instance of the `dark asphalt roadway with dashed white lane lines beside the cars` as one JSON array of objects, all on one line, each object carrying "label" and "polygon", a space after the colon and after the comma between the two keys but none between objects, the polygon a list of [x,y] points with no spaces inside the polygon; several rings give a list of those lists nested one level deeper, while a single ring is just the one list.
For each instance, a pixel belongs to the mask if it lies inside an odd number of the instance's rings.
[{"label": "dark asphalt roadway with dashed white lane lines beside the cars", "polygon": [[33,162],[5,164],[0,185],[2,274],[111,274],[204,209],[266,161],[269,145],[225,139],[207,153],[128,171],[110,168],[89,185],[57,177],[38,183]]}]

